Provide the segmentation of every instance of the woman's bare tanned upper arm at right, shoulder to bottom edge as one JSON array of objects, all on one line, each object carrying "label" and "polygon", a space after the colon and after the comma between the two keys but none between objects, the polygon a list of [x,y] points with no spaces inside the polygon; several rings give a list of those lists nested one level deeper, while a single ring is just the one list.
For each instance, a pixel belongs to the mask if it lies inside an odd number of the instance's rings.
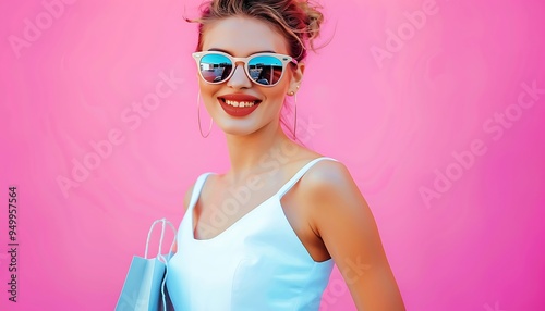
[{"label": "woman's bare tanned upper arm at right, shoulder to bottom edge", "polygon": [[[319,166],[318,166],[319,164]],[[367,202],[339,162],[323,161],[306,178],[311,225],[339,268],[359,310],[404,310]]]}]

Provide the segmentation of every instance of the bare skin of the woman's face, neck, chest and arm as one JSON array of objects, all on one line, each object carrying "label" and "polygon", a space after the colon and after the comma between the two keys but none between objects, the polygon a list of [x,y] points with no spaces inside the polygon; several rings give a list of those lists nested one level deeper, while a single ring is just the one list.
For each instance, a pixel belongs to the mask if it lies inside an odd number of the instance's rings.
[{"label": "bare skin of the woman's face, neck, chest and arm", "polygon": [[[282,34],[264,22],[242,16],[207,25],[203,50],[209,49],[220,49],[233,57],[249,57],[259,51],[289,54]],[[322,157],[291,141],[280,128],[280,109],[286,96],[298,91],[304,63],[290,69],[278,85],[269,88],[252,83],[242,64],[238,64],[233,76],[223,84],[209,85],[197,76],[204,104],[226,135],[231,167],[206,181],[192,215],[197,224],[195,238],[209,239],[221,234],[276,194],[304,164]],[[233,117],[221,109],[217,97],[237,92],[263,101],[250,115]],[[264,154],[277,161],[279,169],[265,167],[263,161],[259,162]],[[258,181],[255,184],[258,190],[251,191],[247,202],[234,215],[218,222],[217,215],[221,214],[218,207],[232,199],[229,189],[247,186],[249,181]],[[186,191],[185,208],[192,191],[193,186]],[[334,259],[358,310],[404,310],[373,214],[342,163],[316,163],[283,196],[281,206],[312,260]]]}]

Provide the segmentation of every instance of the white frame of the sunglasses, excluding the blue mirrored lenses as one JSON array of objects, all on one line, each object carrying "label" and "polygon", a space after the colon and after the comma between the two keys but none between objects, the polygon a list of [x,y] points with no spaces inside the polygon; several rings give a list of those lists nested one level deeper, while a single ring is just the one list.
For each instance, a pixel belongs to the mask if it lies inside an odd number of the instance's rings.
[{"label": "white frame of the sunglasses, excluding the blue mirrored lenses", "polygon": [[[223,79],[221,82],[209,82],[209,80],[204,78],[203,72],[201,71],[201,59],[203,57],[208,55],[208,54],[220,54],[220,55],[228,58],[231,61],[231,63],[233,64],[233,70],[231,71],[231,73],[229,73],[229,76],[227,76],[226,79]],[[247,58],[234,58],[234,57],[231,57],[230,54],[228,54],[226,52],[221,52],[221,51],[202,51],[202,52],[194,52],[194,53],[192,53],[192,55],[195,59],[195,62],[197,63],[198,75],[207,84],[222,84],[222,83],[228,82],[233,76],[234,71],[237,70],[237,64],[243,63],[244,64],[244,73],[246,74],[247,78],[252,83],[254,83],[258,86],[263,86],[263,87],[274,87],[278,83],[280,83],[280,80],[282,79],[283,74],[288,70],[289,63],[294,63],[295,65],[299,63],[298,60],[293,59],[292,57],[286,55],[286,54],[279,54],[279,53],[256,53],[256,54],[252,54]],[[280,77],[278,78],[278,80],[275,84],[271,84],[271,85],[261,84],[252,78],[252,76],[250,75],[250,69],[247,66],[247,63],[251,59],[256,58],[256,57],[274,57],[274,58],[278,59],[280,62],[282,62],[282,73],[280,74]]]}]

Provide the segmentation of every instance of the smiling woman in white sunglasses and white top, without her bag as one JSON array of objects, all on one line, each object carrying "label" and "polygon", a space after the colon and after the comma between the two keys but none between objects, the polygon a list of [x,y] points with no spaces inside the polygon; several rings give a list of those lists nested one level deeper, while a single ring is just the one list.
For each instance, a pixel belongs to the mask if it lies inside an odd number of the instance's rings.
[{"label": "smiling woman in white sunglasses and white top, without her bag", "polygon": [[231,167],[186,192],[167,277],[175,310],[318,310],[334,262],[359,310],[404,310],[347,167],[281,128],[322,14],[306,1],[214,0],[193,22],[199,98]]}]

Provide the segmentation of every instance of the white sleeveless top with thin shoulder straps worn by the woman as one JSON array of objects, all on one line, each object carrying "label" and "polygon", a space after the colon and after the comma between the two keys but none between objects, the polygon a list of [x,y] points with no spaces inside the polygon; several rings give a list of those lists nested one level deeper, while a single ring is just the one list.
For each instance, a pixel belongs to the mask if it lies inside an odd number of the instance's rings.
[{"label": "white sleeveless top with thin shoulder straps worn by the woman", "polygon": [[280,199],[316,162],[218,236],[195,239],[193,208],[211,173],[194,186],[168,263],[167,288],[177,311],[313,310],[319,308],[334,262],[316,262],[291,227]]}]

